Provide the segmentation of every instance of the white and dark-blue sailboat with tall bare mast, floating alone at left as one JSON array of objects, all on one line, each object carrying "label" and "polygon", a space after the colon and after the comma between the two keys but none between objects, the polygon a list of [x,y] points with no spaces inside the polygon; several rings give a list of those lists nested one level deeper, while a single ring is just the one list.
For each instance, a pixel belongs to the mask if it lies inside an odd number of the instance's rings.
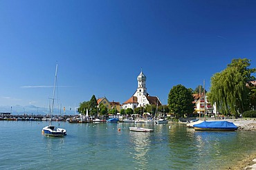
[{"label": "white and dark-blue sailboat with tall bare mast, floating alone at left", "polygon": [[53,103],[51,108],[51,120],[48,126],[44,127],[42,129],[42,133],[46,136],[64,136],[66,135],[66,129],[55,127],[54,125],[51,125],[52,117],[53,117],[53,106],[54,106],[54,97],[55,97],[55,87],[56,87],[56,81],[57,81],[57,65],[55,70],[55,80],[54,80],[54,86],[53,86]]}]

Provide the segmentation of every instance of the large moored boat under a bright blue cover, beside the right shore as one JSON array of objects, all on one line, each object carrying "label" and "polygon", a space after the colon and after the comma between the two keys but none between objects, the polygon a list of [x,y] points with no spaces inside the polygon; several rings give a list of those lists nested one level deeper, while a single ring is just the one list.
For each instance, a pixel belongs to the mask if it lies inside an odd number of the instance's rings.
[{"label": "large moored boat under a bright blue cover, beside the right shore", "polygon": [[197,131],[235,131],[237,126],[228,121],[203,121],[202,123],[193,125]]}]

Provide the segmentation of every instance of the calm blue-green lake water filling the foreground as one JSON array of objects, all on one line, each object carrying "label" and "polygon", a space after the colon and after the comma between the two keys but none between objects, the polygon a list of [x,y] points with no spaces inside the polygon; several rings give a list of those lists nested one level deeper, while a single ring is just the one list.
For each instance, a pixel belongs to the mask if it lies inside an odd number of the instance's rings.
[{"label": "calm blue-green lake water filling the foreground", "polygon": [[54,138],[42,135],[46,125],[0,121],[0,169],[223,169],[256,153],[254,131],[136,124],[154,129],[142,133],[130,123],[60,122],[67,136]]}]

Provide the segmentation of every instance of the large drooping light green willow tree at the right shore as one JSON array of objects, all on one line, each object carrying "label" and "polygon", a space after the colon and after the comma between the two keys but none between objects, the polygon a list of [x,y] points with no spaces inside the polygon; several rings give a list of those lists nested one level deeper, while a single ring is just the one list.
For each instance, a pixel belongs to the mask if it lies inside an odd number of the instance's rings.
[{"label": "large drooping light green willow tree at the right shore", "polygon": [[248,59],[233,59],[225,70],[212,76],[208,97],[221,113],[237,117],[249,109],[250,91],[246,84],[255,78],[250,74],[256,72],[248,68],[249,62]]}]

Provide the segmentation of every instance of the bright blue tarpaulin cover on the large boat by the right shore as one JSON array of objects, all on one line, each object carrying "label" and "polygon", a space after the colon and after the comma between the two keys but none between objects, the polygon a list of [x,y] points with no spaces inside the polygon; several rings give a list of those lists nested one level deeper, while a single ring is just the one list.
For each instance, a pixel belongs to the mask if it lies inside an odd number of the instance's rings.
[{"label": "bright blue tarpaulin cover on the large boat by the right shore", "polygon": [[228,121],[212,121],[196,124],[193,127],[205,128],[205,129],[237,129],[237,126],[234,123]]}]

